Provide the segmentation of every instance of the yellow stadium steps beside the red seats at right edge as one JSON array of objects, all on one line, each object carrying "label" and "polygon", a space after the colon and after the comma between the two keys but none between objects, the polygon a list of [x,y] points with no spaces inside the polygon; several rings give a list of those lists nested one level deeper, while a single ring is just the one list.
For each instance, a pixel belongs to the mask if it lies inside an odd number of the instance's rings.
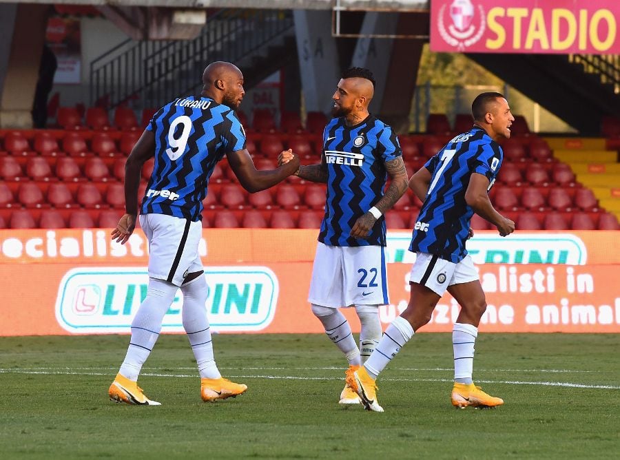
[{"label": "yellow stadium steps beside the red seats at right edge", "polygon": [[578,182],[590,188],[599,206],[620,220],[618,151],[606,149],[605,138],[546,138],[553,156],[568,163]]}]

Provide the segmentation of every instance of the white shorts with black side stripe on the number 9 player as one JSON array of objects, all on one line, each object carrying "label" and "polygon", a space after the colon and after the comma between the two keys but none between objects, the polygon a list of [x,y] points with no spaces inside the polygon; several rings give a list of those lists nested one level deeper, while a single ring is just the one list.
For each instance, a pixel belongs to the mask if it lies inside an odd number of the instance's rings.
[{"label": "white shorts with black side stripe on the number 9 player", "polygon": [[140,225],[149,241],[149,277],[180,286],[188,273],[203,270],[198,243],[203,223],[198,220],[141,214]]}]

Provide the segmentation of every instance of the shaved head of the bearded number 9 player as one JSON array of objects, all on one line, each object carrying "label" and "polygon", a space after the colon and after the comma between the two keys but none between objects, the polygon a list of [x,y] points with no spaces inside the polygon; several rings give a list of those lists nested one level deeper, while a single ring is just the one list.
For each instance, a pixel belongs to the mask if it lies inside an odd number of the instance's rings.
[{"label": "shaved head of the bearded number 9 player", "polygon": [[244,94],[243,74],[236,65],[224,61],[207,65],[203,72],[203,96],[237,109]]}]

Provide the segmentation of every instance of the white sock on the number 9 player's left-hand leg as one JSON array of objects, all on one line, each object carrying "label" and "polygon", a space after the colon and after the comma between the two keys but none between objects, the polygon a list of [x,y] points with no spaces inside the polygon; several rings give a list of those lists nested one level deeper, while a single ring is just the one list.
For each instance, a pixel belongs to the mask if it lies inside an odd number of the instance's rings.
[{"label": "white sock on the number 9 player's left-hand leg", "polygon": [[147,295],[132,321],[132,338],[118,373],[137,381],[161,331],[163,317],[172,305],[178,287],[164,280],[149,278]]}]

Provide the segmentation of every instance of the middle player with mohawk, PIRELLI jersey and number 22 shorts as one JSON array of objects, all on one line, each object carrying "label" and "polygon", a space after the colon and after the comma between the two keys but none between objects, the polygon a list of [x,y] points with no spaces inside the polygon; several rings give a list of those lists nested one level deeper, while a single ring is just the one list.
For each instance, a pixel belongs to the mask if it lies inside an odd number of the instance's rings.
[{"label": "middle player with mohawk, PIRELLI jersey and number 22 shorts", "polygon": [[[327,182],[308,301],[327,337],[347,357],[346,375],[353,375],[381,338],[379,306],[389,303],[383,215],[404,194],[408,179],[391,127],[368,112],[374,85],[370,70],[344,72],[332,96],[334,118],[323,132],[321,163],[296,172],[305,180]],[[359,348],[339,311],[350,306],[362,326]],[[360,397],[345,384],[339,402],[360,404]]]}]

